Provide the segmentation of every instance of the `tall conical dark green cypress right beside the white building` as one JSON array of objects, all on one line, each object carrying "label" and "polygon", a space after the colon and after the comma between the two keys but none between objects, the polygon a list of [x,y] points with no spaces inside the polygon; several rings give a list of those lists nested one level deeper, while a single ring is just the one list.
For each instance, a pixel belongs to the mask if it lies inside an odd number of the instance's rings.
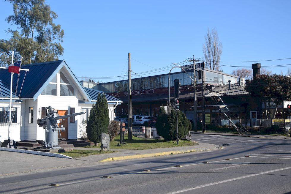
[{"label": "tall conical dark green cypress right beside the white building", "polygon": [[95,145],[101,141],[101,134],[107,133],[109,126],[109,110],[105,93],[98,94],[87,122],[87,136]]}]

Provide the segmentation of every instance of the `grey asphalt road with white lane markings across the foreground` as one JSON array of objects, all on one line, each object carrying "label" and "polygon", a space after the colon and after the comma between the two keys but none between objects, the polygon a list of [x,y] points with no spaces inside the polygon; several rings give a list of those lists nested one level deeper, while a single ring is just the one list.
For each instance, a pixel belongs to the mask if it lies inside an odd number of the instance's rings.
[{"label": "grey asphalt road with white lane markings across the foreground", "polygon": [[192,139],[225,148],[4,176],[0,193],[291,193],[290,139]]}]

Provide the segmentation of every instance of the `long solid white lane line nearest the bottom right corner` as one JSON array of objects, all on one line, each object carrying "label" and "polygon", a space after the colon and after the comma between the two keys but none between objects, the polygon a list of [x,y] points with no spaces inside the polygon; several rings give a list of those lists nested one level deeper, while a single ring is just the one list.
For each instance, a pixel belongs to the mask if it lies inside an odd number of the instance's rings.
[{"label": "long solid white lane line nearest the bottom right corner", "polygon": [[250,175],[246,175],[246,176],[240,176],[240,177],[233,178],[233,179],[227,179],[227,180],[213,182],[213,183],[209,183],[209,184],[203,184],[203,185],[200,185],[200,186],[197,186],[197,187],[190,187],[188,189],[173,191],[173,192],[170,192],[170,193],[167,193],[167,194],[182,193],[182,192],[191,191],[191,190],[194,190],[194,189],[199,189],[199,188],[202,188],[202,187],[212,186],[212,185],[215,185],[215,184],[230,182],[230,181],[234,181],[234,180],[238,180],[238,179],[244,179],[244,178],[257,176],[257,175],[262,175],[262,174],[268,174],[268,173],[276,172],[276,171],[283,171],[283,170],[287,170],[287,169],[290,169],[290,168],[291,168],[291,166],[286,167],[286,168],[279,168],[279,169],[275,169],[275,170],[271,170],[271,171],[265,171],[265,172],[261,172],[261,173],[250,174]]}]

